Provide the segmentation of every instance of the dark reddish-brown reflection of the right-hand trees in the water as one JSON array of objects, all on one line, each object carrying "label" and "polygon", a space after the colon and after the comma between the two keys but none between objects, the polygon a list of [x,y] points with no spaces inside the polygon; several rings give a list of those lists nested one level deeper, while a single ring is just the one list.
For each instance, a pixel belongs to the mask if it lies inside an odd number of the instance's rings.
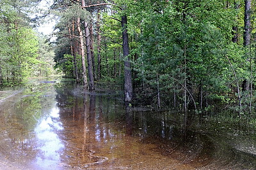
[{"label": "dark reddish-brown reflection of the right-hand trees in the water", "polygon": [[[135,153],[140,159],[144,154],[160,153],[184,164],[202,166],[211,164],[216,154],[223,155],[223,146],[216,148],[208,136],[189,130],[194,123],[187,121],[193,120],[189,115],[184,119],[168,111],[135,111],[125,109],[124,103],[112,96],[77,95],[68,88],[57,91],[65,128],[61,139],[67,144],[62,159],[71,166],[91,166],[107,160],[100,156],[109,158],[106,164],[111,158],[125,164]],[[145,148],[152,145],[153,148]],[[232,153],[229,156],[234,158]],[[228,160],[223,158],[223,162]]]}]

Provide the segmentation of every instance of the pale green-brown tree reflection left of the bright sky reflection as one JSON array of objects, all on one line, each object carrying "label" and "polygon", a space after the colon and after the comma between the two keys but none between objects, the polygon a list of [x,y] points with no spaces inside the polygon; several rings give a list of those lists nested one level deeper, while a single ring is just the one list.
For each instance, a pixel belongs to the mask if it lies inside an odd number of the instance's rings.
[{"label": "pale green-brown tree reflection left of the bright sky reflection", "polygon": [[52,84],[33,83],[8,101],[1,103],[1,154],[24,164],[26,159],[35,158],[36,139],[34,130],[42,117],[51,112],[54,101]]}]

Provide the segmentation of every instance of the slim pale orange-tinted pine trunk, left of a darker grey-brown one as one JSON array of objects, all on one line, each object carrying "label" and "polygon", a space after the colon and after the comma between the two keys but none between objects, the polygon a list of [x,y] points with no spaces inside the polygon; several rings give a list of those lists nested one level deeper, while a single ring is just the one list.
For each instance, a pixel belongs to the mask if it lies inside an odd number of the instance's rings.
[{"label": "slim pale orange-tinted pine trunk, left of a darker grey-brown one", "polygon": [[88,83],[87,83],[86,65],[85,65],[85,58],[84,58],[84,41],[83,41],[83,32],[80,26],[80,18],[77,18],[77,31],[79,32],[80,52],[82,57],[82,67],[83,67],[82,76],[83,76],[84,90],[87,90]]}]

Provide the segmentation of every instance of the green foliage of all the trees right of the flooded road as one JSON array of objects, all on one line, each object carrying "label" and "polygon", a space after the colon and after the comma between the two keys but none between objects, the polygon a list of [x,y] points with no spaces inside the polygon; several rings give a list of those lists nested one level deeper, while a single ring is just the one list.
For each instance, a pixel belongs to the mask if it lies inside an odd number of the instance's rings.
[{"label": "green foliage of all the trees right of the flooded road", "polygon": [[[242,45],[243,1],[114,0],[111,3],[115,5],[105,6],[104,10],[102,6],[90,8],[89,18],[86,18],[89,14],[85,10],[63,2],[67,5],[61,8],[57,26],[55,60],[66,74],[72,75],[74,71],[70,44],[76,40],[67,36],[67,28],[77,17],[86,21],[93,17],[96,21],[100,16],[102,19],[93,25],[92,32],[93,45],[100,47],[100,51],[95,48],[94,54],[101,56],[101,78],[122,82],[124,59],[120,20],[126,15],[135,102],[158,108],[173,106],[181,109],[188,105],[189,110],[196,107],[200,113],[223,108],[240,109],[248,115],[246,112],[254,98],[248,90],[240,94],[237,91],[242,90],[244,80],[255,83],[253,56],[256,48],[255,42],[248,48]],[[255,3],[252,5],[255,7]],[[237,27],[238,43],[232,42],[234,27]],[[77,35],[76,31],[74,33]],[[100,40],[97,39],[99,34]],[[252,35],[255,37],[255,30]],[[98,66],[95,63],[95,70]],[[237,107],[237,97],[242,98],[242,108]]]}]

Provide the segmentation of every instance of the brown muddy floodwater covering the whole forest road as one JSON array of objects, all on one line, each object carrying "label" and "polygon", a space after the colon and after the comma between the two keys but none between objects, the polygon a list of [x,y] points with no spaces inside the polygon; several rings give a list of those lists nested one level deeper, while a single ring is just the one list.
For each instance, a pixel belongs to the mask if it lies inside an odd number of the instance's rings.
[{"label": "brown muddy floodwater covering the whole forest road", "polygon": [[0,169],[256,169],[253,134],[180,115],[125,109],[118,91],[33,83],[0,103]]}]

